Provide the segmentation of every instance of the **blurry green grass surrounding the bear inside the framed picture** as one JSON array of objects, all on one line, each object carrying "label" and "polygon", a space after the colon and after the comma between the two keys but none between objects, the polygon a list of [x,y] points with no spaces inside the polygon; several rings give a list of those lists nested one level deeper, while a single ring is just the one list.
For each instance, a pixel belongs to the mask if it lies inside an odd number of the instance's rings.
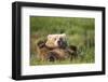
[{"label": "blurry green grass surrounding the bear inside the framed picture", "polygon": [[30,65],[52,65],[37,59],[35,43],[46,39],[50,33],[66,33],[68,44],[78,47],[79,57],[53,64],[86,64],[95,62],[95,19],[83,17],[30,16]]}]

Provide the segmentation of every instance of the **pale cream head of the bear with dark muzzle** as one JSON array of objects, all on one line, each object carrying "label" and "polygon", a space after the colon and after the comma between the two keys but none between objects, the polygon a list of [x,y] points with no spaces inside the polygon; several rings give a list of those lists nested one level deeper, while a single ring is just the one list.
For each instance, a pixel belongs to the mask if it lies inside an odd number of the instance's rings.
[{"label": "pale cream head of the bear with dark muzzle", "polygon": [[49,35],[45,45],[48,47],[65,47],[67,45],[66,35]]}]

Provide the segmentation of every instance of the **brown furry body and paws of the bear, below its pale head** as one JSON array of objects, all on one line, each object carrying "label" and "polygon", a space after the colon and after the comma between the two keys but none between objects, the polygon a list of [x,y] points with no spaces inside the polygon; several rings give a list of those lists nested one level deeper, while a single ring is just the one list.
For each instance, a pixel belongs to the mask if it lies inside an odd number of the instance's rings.
[{"label": "brown furry body and paws of the bear, below its pale head", "polygon": [[50,49],[45,45],[45,41],[39,41],[37,43],[37,58],[40,60],[63,60],[70,58],[72,59],[77,55],[77,47],[71,45],[66,49]]}]

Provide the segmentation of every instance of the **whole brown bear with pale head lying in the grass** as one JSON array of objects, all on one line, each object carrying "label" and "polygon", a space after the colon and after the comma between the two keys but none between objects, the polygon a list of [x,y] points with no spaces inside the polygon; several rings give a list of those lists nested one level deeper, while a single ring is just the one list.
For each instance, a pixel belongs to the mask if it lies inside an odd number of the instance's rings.
[{"label": "whole brown bear with pale head lying in the grass", "polygon": [[49,35],[46,41],[37,43],[37,57],[40,60],[64,60],[77,56],[77,46],[67,45],[66,35]]}]

